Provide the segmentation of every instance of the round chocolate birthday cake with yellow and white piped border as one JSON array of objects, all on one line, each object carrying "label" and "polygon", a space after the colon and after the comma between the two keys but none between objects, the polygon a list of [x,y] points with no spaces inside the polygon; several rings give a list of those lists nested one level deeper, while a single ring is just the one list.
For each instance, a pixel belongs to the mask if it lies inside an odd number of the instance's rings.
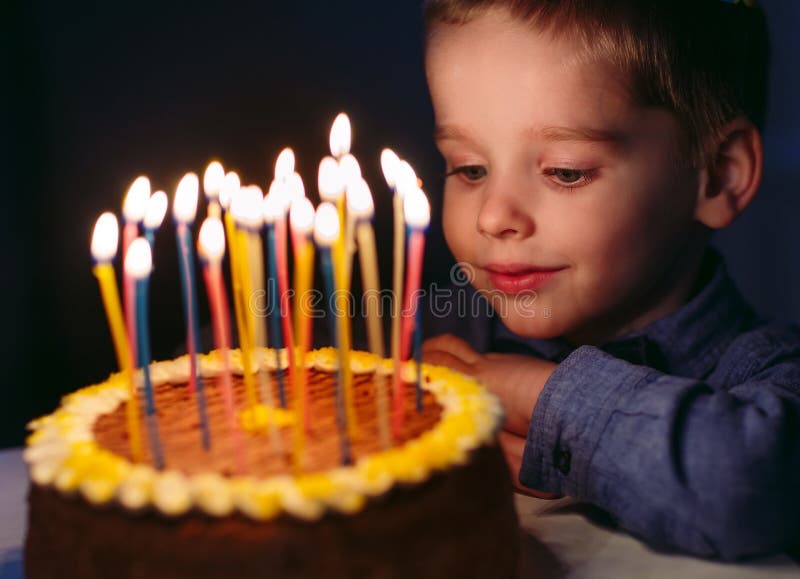
[{"label": "round chocolate birthday cake with yellow and white piped border", "polygon": [[[232,354],[244,405],[242,360]],[[274,351],[255,354],[253,366],[275,388]],[[28,579],[515,576],[516,516],[496,443],[502,412],[472,379],[423,365],[417,391],[414,365],[406,366],[406,419],[386,448],[375,404],[379,386],[391,388],[392,366],[353,353],[358,432],[343,464],[336,356],[311,352],[310,426],[298,465],[296,417],[270,409],[260,427],[243,423],[232,436],[217,352],[200,359],[208,449],[186,387],[188,359],[150,366],[163,468],[147,449],[140,461],[131,457],[121,373],[31,423]]]}]

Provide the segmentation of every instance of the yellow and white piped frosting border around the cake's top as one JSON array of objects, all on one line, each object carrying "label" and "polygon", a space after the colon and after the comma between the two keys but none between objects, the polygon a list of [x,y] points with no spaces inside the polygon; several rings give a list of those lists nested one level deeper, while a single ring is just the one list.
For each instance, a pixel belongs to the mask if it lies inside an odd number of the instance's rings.
[{"label": "yellow and white piped frosting border around the cake's top", "polygon": [[[257,365],[275,369],[275,352],[259,349]],[[285,356],[281,357],[285,359]],[[320,372],[335,372],[337,357],[330,349],[309,353],[307,365]],[[234,352],[233,369],[242,373],[242,360]],[[354,374],[388,374],[391,361],[353,353]],[[200,356],[204,377],[221,370],[217,352]],[[413,372],[413,365],[405,367]],[[185,383],[188,357],[157,362],[150,367],[154,384]],[[502,410],[494,396],[472,378],[455,371],[423,364],[422,388],[441,407],[439,420],[416,438],[388,450],[357,457],[352,466],[334,467],[298,475],[231,475],[209,469],[185,472],[177,468],[156,470],[132,463],[121,453],[100,444],[95,424],[114,412],[129,397],[128,381],[121,373],[105,382],[66,396],[53,413],[30,423],[25,460],[31,479],[71,494],[80,493],[96,505],[117,503],[131,511],[155,508],[167,516],[192,509],[211,516],[239,512],[256,520],[282,513],[315,520],[328,510],[357,512],[370,497],[396,485],[422,482],[437,471],[468,460],[469,453],[491,442],[502,423]]]}]

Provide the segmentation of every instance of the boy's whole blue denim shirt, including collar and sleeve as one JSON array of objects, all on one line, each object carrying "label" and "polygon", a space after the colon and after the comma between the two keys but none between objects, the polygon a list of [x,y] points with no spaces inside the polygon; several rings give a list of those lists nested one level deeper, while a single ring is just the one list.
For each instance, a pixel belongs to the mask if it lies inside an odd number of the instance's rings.
[{"label": "boy's whole blue denim shirt, including collar and sleeve", "polygon": [[793,549],[800,328],[759,319],[719,256],[706,261],[689,303],[600,347],[526,340],[491,316],[432,323],[479,351],[559,362],[531,417],[524,485],[589,501],[657,547],[725,560]]}]

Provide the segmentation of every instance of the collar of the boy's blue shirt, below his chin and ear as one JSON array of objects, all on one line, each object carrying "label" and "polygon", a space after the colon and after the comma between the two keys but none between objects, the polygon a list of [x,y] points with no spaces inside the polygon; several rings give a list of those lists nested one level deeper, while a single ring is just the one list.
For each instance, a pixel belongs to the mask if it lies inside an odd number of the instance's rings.
[{"label": "collar of the boy's blue shirt, below his chin and ear", "polygon": [[[722,352],[753,325],[756,316],[714,249],[709,249],[703,260],[701,278],[708,282],[680,309],[599,348],[633,364],[670,374],[696,378],[710,374]],[[528,351],[554,362],[575,350],[562,338],[520,338],[496,317],[492,337],[494,350]]]}]

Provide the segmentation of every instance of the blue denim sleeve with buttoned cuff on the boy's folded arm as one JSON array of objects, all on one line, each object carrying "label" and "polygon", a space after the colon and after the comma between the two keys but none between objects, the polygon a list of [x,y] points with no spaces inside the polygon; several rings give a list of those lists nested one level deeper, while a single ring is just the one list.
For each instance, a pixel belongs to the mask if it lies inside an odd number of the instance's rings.
[{"label": "blue denim sleeve with buttoned cuff on the boy's folded arm", "polygon": [[703,381],[578,348],[539,397],[520,481],[655,546],[724,560],[797,546],[800,347],[766,337],[724,357]]}]

